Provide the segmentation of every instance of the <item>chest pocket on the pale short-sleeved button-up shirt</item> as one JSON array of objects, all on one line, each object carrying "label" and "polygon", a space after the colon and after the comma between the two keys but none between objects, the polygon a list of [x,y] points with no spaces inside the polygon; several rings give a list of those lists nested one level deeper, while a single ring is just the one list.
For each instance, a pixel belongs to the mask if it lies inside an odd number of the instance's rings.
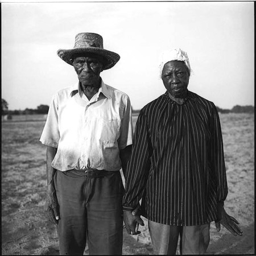
[{"label": "chest pocket on the pale short-sleeved button-up shirt", "polygon": [[120,133],[121,121],[119,119],[101,118],[100,141],[105,147],[114,147]]}]

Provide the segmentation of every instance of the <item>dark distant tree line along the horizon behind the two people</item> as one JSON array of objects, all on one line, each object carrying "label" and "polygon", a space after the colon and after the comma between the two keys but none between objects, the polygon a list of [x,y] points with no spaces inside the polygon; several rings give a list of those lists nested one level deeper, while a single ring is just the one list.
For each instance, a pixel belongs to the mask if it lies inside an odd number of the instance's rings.
[{"label": "dark distant tree line along the horizon behind the two people", "polygon": [[[8,103],[5,99],[2,98],[2,115],[20,115],[20,114],[47,114],[49,110],[48,105],[39,105],[36,109],[24,109],[24,110],[9,110]],[[219,113],[254,113],[254,106],[246,105],[240,106],[236,105],[232,109],[221,109],[216,106]],[[140,110],[134,110],[132,108],[132,112],[134,114],[138,114]]]}]

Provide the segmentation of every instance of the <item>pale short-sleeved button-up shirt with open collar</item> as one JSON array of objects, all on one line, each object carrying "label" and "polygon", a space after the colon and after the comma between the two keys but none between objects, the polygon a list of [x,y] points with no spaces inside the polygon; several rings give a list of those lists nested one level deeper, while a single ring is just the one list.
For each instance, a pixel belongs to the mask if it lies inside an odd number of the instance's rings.
[{"label": "pale short-sleeved button-up shirt with open collar", "polygon": [[56,147],[52,167],[119,171],[119,150],[133,143],[129,97],[101,82],[90,100],[79,82],[57,92],[40,142]]}]

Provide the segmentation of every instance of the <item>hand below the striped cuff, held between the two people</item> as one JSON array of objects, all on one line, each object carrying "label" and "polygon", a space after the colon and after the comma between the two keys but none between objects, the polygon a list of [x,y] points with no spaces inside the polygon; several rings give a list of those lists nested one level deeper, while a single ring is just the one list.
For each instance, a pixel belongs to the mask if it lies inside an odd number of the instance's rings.
[{"label": "hand below the striped cuff, held between the two people", "polygon": [[[137,208],[134,210],[135,213],[138,212]],[[144,226],[144,222],[138,214],[133,215],[133,213],[127,210],[123,211],[123,221],[125,221],[126,231],[128,234],[141,234],[141,232],[138,231],[138,228],[139,225]]]}]

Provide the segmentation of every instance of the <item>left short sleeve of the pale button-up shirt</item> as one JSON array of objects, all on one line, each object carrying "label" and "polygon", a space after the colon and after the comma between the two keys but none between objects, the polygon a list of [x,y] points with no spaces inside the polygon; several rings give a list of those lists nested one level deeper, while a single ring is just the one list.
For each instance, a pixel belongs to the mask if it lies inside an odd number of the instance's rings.
[{"label": "left short sleeve of the pale button-up shirt", "polygon": [[49,111],[46,119],[46,124],[42,135],[40,137],[40,142],[42,144],[58,147],[60,139],[59,125],[58,125],[58,97],[57,94],[52,97],[51,104],[49,106]]}]

